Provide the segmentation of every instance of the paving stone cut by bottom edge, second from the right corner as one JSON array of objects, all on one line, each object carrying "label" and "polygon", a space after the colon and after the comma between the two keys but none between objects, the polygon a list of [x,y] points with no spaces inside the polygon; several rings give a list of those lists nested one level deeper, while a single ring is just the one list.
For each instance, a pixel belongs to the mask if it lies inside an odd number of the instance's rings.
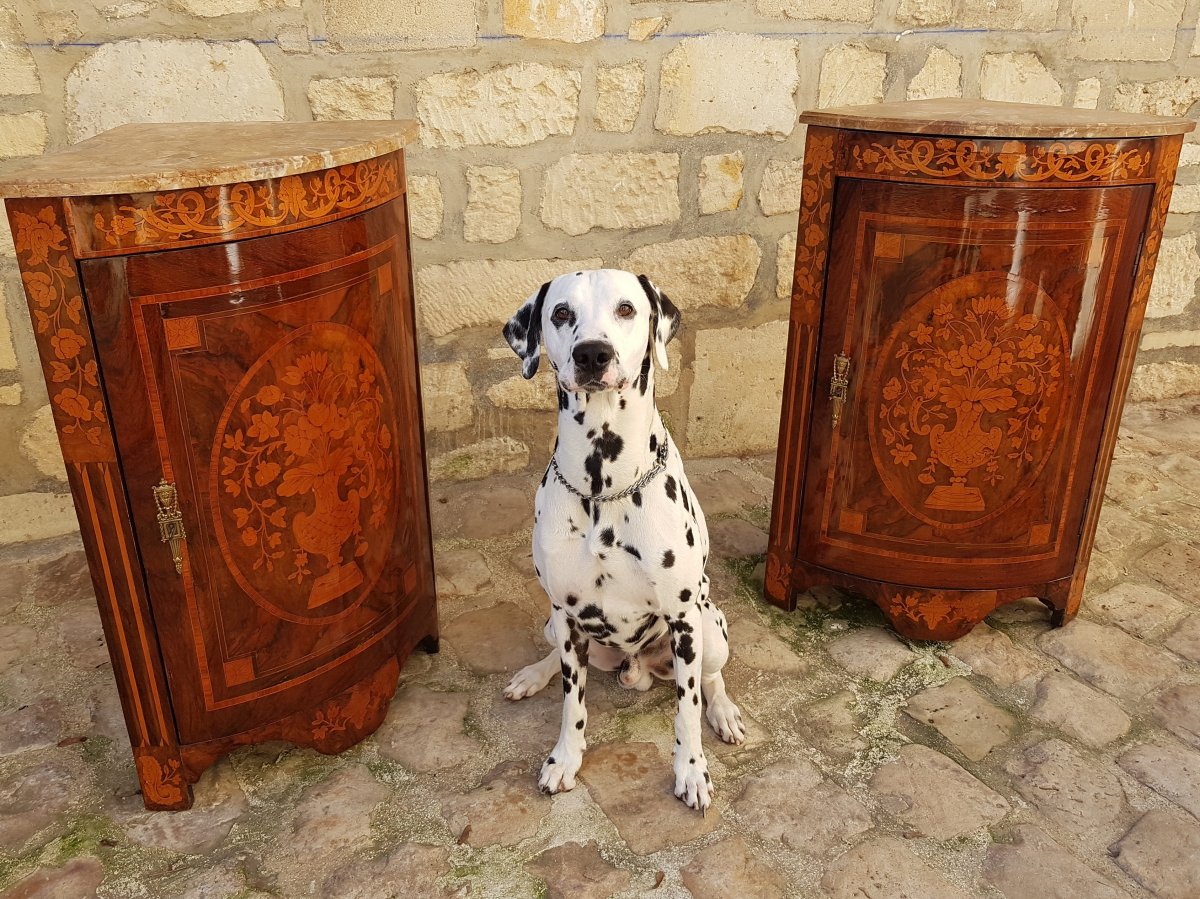
[{"label": "paving stone cut by bottom edge, second from the right corner", "polygon": [[1006,899],[1129,899],[1032,825],[1014,827],[1012,843],[988,849],[983,877]]}]

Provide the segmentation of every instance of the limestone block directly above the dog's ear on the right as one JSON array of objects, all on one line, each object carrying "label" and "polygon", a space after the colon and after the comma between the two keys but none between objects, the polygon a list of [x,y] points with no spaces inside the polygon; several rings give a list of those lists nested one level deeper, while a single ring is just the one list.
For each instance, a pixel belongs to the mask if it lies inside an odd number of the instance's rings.
[{"label": "limestone block directly above the dog's ear on the right", "polygon": [[649,278],[680,310],[737,308],[758,274],[762,251],[749,234],[688,238],[638,247],[622,268]]}]

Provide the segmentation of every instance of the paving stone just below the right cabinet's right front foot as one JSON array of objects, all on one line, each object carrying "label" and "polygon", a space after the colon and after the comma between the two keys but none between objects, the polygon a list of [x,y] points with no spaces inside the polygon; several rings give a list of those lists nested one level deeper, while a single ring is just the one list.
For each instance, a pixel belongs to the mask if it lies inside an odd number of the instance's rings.
[{"label": "paving stone just below the right cabinet's right front foot", "polygon": [[1038,647],[1090,684],[1130,702],[1141,701],[1178,672],[1178,663],[1162,649],[1081,618],[1046,631]]}]

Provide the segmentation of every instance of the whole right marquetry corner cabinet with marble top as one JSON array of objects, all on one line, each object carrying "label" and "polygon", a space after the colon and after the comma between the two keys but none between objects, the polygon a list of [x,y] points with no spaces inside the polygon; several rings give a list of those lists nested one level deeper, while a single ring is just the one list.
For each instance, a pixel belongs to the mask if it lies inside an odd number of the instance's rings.
[{"label": "whole right marquetry corner cabinet with marble top", "polygon": [[806,113],[766,592],[901,634],[1079,610],[1183,134],[978,100]]}]

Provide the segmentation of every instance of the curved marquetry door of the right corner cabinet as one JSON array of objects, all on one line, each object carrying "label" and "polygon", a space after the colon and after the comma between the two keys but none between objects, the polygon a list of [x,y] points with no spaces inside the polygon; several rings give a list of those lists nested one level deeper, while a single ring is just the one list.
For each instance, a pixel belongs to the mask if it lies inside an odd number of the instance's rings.
[{"label": "curved marquetry door of the right corner cabinet", "polygon": [[839,182],[800,558],[946,588],[1070,574],[1150,196]]}]

